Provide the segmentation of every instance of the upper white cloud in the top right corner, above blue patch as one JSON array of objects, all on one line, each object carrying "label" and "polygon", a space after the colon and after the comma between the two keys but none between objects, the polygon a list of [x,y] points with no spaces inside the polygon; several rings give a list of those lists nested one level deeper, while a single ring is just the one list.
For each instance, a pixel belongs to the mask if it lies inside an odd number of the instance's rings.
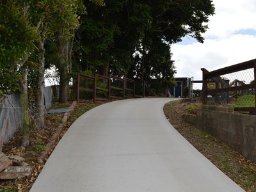
[{"label": "upper white cloud in the top right corner, above blue patch", "polygon": [[214,0],[216,14],[210,17],[205,38],[225,38],[240,29],[256,29],[255,0]]}]

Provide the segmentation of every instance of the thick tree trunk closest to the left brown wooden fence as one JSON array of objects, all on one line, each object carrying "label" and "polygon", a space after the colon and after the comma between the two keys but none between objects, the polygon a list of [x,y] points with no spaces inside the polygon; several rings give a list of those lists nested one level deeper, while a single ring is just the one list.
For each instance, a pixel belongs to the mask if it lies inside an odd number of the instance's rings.
[{"label": "thick tree trunk closest to the left brown wooden fence", "polygon": [[68,102],[68,40],[63,29],[58,31],[58,68],[60,72],[60,102]]}]

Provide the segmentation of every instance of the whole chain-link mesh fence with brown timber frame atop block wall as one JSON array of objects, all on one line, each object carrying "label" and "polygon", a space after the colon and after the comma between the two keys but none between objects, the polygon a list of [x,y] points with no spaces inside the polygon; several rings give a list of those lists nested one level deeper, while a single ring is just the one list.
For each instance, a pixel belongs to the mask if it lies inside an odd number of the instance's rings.
[{"label": "whole chain-link mesh fence with brown timber frame atop block wall", "polygon": [[204,104],[232,106],[236,111],[255,109],[256,60],[212,72],[203,70]]}]

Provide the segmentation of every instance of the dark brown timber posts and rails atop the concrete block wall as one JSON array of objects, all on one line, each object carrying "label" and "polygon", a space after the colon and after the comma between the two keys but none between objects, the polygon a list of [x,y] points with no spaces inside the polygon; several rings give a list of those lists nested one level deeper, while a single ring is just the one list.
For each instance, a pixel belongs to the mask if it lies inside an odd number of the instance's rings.
[{"label": "dark brown timber posts and rails atop the concrete block wall", "polygon": [[[218,78],[220,79],[221,76],[223,75],[227,75],[227,74],[232,74],[235,72],[242,72],[243,70],[248,70],[248,69],[253,69],[254,70],[254,79],[253,81],[251,81],[250,83],[243,83],[243,84],[236,84],[234,86],[234,84],[228,84],[228,86],[216,86],[216,88],[214,89],[209,89],[207,86],[207,83],[214,81],[214,78]],[[243,90],[254,90],[254,96],[255,96],[255,102],[254,102],[254,106],[250,106],[250,107],[235,107],[235,111],[250,111],[250,112],[256,112],[256,59],[255,60],[250,60],[250,61],[246,61],[243,63],[239,63],[237,65],[232,65],[230,67],[225,67],[225,68],[220,68],[218,70],[214,70],[209,72],[208,70],[206,70],[205,68],[201,68],[202,72],[203,72],[203,90],[202,90],[202,101],[203,104],[207,104],[207,100],[209,99],[207,96],[208,95],[213,95],[216,93],[228,93],[228,92],[237,92],[237,91],[243,91]],[[252,71],[253,71],[252,70]],[[248,76],[248,74],[244,73],[243,74],[243,78],[246,78],[246,75]],[[252,74],[253,76],[253,74]],[[237,80],[238,81],[238,80]],[[239,81],[242,82],[242,81]],[[228,97],[230,97],[230,94],[228,93]]]}]

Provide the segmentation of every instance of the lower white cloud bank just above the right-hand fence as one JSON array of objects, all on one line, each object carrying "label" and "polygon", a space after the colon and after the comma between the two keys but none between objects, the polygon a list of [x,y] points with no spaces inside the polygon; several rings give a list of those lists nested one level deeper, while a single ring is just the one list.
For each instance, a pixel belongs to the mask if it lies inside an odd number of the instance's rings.
[{"label": "lower white cloud bank just above the right-hand fence", "polygon": [[225,40],[206,39],[204,44],[172,46],[177,76],[202,79],[200,68],[216,70],[255,59],[256,36],[232,35]]}]

